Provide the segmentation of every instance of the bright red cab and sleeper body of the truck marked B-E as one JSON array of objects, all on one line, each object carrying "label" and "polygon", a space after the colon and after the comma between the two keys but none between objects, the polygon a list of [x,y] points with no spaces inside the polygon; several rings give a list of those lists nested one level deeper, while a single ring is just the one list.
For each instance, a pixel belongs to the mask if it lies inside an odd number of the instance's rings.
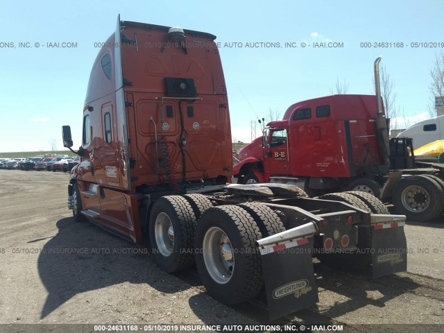
[{"label": "bright red cab and sleeper body of the truck marked B-E", "polygon": [[239,153],[234,178],[239,183],[290,181],[313,193],[355,189],[355,180],[368,178],[373,179],[369,190],[379,194],[375,180],[382,181],[388,169],[379,154],[376,119],[376,99],[370,95],[295,103],[281,121],[268,123],[264,137]]}]

